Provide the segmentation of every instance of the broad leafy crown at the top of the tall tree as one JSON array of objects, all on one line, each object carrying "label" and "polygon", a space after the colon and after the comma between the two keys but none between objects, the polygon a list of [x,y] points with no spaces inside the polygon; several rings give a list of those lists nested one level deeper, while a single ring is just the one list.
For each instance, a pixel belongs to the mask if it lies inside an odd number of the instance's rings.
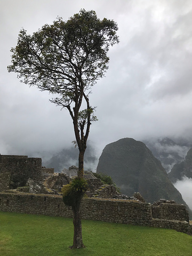
[{"label": "broad leafy crown at the top of the tall tree", "polygon": [[[116,22],[100,20],[94,11],[81,10],[68,21],[58,18],[33,35],[25,29],[11,49],[9,71],[29,85],[60,93],[66,106],[80,92],[92,86],[108,69],[109,46],[118,43]],[[83,83],[83,84],[82,84]]]}]

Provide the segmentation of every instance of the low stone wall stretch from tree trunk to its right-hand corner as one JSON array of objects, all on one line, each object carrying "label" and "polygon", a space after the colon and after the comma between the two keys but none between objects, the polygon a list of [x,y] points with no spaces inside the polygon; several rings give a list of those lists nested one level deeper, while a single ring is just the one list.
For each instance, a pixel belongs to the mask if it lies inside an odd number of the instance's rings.
[{"label": "low stone wall stretch from tree trunk to its right-hand corner", "polygon": [[152,214],[149,203],[87,198],[82,204],[82,218],[146,226],[152,220]]}]

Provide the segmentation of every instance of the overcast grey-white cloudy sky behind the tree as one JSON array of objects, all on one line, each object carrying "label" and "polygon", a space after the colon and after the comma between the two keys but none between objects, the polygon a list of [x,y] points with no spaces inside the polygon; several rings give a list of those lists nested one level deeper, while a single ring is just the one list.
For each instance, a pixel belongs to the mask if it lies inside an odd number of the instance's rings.
[{"label": "overcast grey-white cloudy sky behind the tree", "polygon": [[[57,151],[74,140],[67,110],[8,73],[11,47],[23,27],[32,34],[80,9],[118,23],[120,43],[92,89],[99,121],[90,140],[103,147],[124,137],[192,137],[192,2],[189,0],[1,0],[0,153]],[[33,155],[38,157],[37,155]]]}]

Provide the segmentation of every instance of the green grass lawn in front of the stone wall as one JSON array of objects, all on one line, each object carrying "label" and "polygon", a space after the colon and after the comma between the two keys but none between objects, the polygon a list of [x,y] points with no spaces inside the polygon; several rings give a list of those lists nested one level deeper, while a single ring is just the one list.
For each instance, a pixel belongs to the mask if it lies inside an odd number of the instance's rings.
[{"label": "green grass lawn in front of the stone wall", "polygon": [[73,220],[0,212],[1,256],[189,256],[192,236],[175,230],[82,220],[85,249],[71,250]]}]

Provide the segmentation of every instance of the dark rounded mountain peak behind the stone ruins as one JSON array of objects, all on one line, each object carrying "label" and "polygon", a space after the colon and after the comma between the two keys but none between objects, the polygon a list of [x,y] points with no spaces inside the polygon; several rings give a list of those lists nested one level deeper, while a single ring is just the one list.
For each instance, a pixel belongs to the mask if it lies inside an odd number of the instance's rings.
[{"label": "dark rounded mountain peak behind the stone ruins", "polygon": [[186,205],[161,162],[141,141],[124,138],[108,144],[99,158],[97,172],[110,175],[128,196],[138,191],[151,203],[165,198]]}]

